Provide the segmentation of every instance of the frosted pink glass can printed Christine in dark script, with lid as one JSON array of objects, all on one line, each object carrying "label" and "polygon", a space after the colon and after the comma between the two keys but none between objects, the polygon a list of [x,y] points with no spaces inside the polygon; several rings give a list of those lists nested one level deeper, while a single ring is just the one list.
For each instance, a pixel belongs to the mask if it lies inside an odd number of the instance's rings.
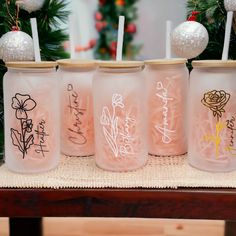
[{"label": "frosted pink glass can printed Christine in dark script, with lid", "polygon": [[94,155],[92,79],[95,61],[59,60],[61,78],[61,152]]}]

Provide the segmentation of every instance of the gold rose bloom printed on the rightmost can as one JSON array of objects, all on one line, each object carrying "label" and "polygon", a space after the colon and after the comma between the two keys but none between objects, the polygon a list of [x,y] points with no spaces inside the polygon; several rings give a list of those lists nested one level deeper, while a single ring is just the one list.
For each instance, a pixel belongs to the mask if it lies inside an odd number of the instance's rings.
[{"label": "gold rose bloom printed on the rightmost can", "polygon": [[222,113],[225,112],[224,107],[230,99],[230,94],[224,90],[212,90],[204,94],[201,100],[202,104],[211,109],[213,116],[219,121]]}]

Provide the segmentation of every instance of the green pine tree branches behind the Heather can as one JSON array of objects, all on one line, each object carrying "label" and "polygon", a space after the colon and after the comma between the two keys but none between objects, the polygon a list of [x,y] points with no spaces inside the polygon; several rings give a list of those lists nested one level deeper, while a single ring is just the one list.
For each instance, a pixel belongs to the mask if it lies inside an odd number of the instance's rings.
[{"label": "green pine tree branches behind the Heather can", "polygon": [[[68,39],[65,32],[60,29],[61,22],[66,22],[69,12],[65,10],[64,0],[41,0],[21,1],[22,7],[17,6],[15,0],[0,0],[0,37],[7,32],[21,30],[29,35],[31,33],[30,18],[37,18],[39,44],[42,60],[57,60],[67,58],[69,55],[64,51],[63,42]],[[42,7],[34,9],[42,2]],[[27,5],[29,4],[28,8]],[[21,5],[20,5],[21,6]],[[25,10],[24,10],[25,9]],[[0,39],[1,40],[1,39]],[[1,57],[1,55],[0,55]],[[0,61],[0,79],[6,72],[4,62]],[[3,94],[2,82],[0,85],[0,151],[3,147]]]}]

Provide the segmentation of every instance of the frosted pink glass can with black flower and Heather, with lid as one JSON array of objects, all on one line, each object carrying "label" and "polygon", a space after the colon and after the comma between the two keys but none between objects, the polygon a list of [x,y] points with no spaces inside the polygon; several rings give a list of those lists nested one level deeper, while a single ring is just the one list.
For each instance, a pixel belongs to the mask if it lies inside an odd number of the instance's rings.
[{"label": "frosted pink glass can with black flower and Heather, with lid", "polygon": [[57,166],[59,83],[55,62],[8,62],[4,76],[5,161],[36,173]]}]

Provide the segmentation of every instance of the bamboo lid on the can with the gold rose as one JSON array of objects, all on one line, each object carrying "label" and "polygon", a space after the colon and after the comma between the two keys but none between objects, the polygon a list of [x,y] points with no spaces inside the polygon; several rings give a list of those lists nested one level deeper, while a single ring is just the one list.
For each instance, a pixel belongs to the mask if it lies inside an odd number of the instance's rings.
[{"label": "bamboo lid on the can with the gold rose", "polygon": [[201,60],[201,61],[193,61],[192,66],[194,68],[204,68],[204,67],[221,67],[221,68],[229,68],[236,67],[236,60]]}]

